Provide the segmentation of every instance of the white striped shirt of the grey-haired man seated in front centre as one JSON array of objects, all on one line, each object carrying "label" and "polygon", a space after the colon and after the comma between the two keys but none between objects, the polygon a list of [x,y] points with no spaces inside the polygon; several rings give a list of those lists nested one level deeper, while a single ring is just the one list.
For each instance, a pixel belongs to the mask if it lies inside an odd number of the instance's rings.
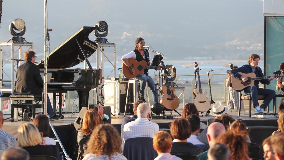
[{"label": "white striped shirt of the grey-haired man seated in front centre", "polygon": [[159,126],[158,124],[149,121],[148,118],[137,118],[136,120],[125,124],[123,131],[123,141],[125,142],[128,138],[153,138],[154,135],[159,132]]}]

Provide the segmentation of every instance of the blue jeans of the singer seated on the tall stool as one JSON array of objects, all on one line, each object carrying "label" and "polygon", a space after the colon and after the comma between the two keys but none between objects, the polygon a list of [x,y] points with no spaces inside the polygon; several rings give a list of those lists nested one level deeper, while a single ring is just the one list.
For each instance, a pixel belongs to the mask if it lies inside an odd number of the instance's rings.
[{"label": "blue jeans of the singer seated on the tall stool", "polygon": [[155,91],[155,83],[152,79],[152,77],[150,77],[149,75],[145,75],[145,74],[139,74],[135,77],[136,80],[140,81],[140,91],[139,91],[139,95],[141,97],[144,97],[144,90],[146,87],[146,82],[148,82],[148,86],[150,87],[152,93],[153,93],[153,100],[154,103],[158,103],[159,102],[159,98],[158,98],[158,91]]}]

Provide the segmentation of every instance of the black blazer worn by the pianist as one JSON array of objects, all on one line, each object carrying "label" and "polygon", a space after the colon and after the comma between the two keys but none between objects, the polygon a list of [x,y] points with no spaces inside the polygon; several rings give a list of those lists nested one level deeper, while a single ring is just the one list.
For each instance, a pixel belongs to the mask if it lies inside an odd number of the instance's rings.
[{"label": "black blazer worn by the pianist", "polygon": [[28,61],[18,67],[14,94],[42,94],[42,78],[39,67]]}]

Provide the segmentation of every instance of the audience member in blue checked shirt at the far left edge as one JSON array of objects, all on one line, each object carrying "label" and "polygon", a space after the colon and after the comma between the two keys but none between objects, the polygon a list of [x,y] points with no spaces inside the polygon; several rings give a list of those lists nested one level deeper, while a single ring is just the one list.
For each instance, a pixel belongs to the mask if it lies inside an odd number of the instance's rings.
[{"label": "audience member in blue checked shirt at the far left edge", "polygon": [[14,136],[2,130],[2,126],[4,124],[2,111],[0,111],[0,121],[0,150],[5,151],[9,148],[18,147],[17,141]]}]

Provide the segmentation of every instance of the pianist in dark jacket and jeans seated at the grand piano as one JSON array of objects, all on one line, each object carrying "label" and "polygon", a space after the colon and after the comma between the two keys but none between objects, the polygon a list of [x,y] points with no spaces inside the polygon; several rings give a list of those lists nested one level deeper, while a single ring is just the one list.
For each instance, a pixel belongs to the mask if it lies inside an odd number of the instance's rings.
[{"label": "pianist in dark jacket and jeans seated at the grand piano", "polygon": [[[36,52],[28,50],[24,53],[25,63],[20,65],[17,69],[17,83],[14,90],[14,94],[34,94],[42,95],[43,80],[41,78],[39,67],[35,65]],[[47,96],[47,114],[50,120],[58,120],[61,118],[60,115],[53,113],[53,108],[49,97]],[[26,117],[27,118],[27,117]],[[28,119],[24,121],[29,121]]]}]

